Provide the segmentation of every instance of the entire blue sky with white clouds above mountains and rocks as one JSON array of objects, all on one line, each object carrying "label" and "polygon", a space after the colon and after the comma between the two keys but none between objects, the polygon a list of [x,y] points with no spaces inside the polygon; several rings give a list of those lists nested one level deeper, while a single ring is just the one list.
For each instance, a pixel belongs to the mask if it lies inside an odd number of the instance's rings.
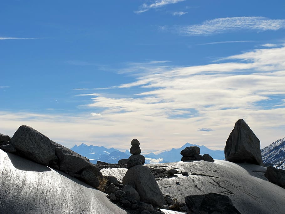
[{"label": "entire blue sky with white clouds above mountains and rocks", "polygon": [[67,147],[285,136],[284,1],[1,1],[0,132]]}]

